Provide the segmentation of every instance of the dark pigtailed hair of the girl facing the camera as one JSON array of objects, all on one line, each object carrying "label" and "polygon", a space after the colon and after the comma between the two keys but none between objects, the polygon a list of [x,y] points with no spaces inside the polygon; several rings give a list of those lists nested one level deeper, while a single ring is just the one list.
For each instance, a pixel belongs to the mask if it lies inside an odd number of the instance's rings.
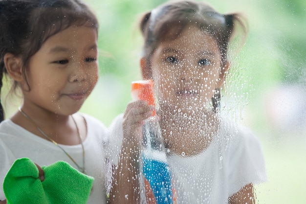
[{"label": "dark pigtailed hair of the girl facing the camera", "polygon": [[[175,40],[187,25],[193,25],[213,36],[219,46],[221,66],[227,62],[228,45],[238,25],[246,34],[240,14],[220,14],[204,2],[192,0],[170,1],[145,13],[140,21],[144,37],[143,57],[150,59],[157,45]],[[219,107],[220,93],[212,98],[214,111]]]}]

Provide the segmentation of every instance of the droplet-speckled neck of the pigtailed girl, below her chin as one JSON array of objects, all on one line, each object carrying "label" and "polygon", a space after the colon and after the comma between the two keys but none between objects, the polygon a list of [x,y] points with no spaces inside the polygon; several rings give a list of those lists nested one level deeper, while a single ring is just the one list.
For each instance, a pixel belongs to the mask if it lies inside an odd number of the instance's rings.
[{"label": "droplet-speckled neck of the pigtailed girl, below her chin", "polygon": [[211,112],[190,117],[163,115],[160,120],[166,147],[175,154],[183,153],[185,156],[203,152],[216,136],[218,126],[218,117]]}]

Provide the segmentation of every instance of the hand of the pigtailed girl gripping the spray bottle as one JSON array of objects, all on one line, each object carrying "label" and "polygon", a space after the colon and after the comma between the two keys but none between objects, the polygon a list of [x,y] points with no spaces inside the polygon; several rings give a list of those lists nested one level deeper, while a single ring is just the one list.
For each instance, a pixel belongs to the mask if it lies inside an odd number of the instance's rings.
[{"label": "hand of the pigtailed girl gripping the spray bottle", "polygon": [[139,148],[142,143],[142,125],[144,120],[153,116],[155,107],[145,101],[133,101],[128,104],[123,120],[124,146]]}]

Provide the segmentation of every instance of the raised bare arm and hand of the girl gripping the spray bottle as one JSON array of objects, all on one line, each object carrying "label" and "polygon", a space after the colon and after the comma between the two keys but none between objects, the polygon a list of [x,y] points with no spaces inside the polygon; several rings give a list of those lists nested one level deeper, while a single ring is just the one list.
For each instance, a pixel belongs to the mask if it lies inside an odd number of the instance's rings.
[{"label": "raised bare arm and hand of the girl gripping the spray bottle", "polygon": [[110,190],[110,204],[140,203],[139,193],[139,153],[142,147],[143,120],[153,115],[153,107],[146,102],[131,102],[123,121],[123,143],[118,166],[114,168],[114,178]]}]

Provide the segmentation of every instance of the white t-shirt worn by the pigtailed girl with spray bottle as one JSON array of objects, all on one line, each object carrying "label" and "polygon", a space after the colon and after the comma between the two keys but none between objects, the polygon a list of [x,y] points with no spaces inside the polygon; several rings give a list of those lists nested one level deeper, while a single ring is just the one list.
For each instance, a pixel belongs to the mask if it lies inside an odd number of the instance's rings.
[{"label": "white t-shirt worn by the pigtailed girl with spray bottle", "polygon": [[[110,131],[122,138],[122,115]],[[177,204],[227,204],[227,199],[248,183],[266,181],[265,163],[257,138],[246,128],[221,121],[218,135],[194,157],[169,154]],[[116,147],[121,146],[117,140]],[[118,150],[115,150],[118,151]]]}]

